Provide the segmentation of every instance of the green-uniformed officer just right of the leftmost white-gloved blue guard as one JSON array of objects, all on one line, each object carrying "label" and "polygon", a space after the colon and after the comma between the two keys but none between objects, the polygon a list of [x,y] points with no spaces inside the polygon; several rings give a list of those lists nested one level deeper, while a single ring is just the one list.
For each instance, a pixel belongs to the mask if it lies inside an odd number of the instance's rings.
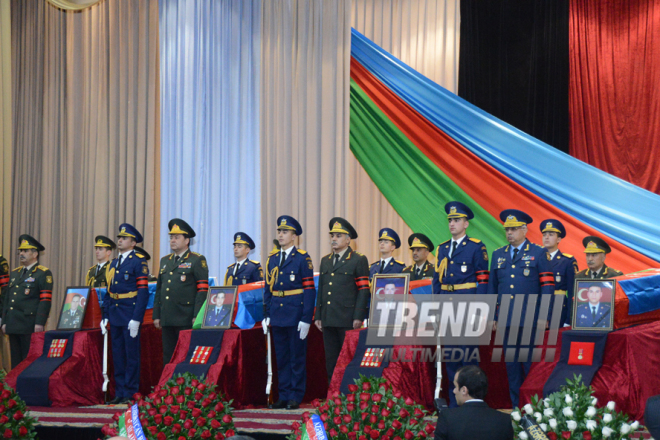
[{"label": "green-uniformed officer just right of the leftmost white-gloved blue guard", "polygon": [[195,231],[180,218],[167,226],[172,253],[160,259],[153,312],[154,326],[163,329],[163,366],[172,358],[179,332],[192,328],[209,290],[206,258],[189,249]]}]

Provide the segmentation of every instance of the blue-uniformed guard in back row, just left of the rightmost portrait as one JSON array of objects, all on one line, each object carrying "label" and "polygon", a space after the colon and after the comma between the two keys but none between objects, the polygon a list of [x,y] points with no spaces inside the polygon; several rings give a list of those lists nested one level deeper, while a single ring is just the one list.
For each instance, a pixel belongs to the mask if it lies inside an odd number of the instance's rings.
[{"label": "blue-uniformed guard in back row, just left of the rightmost portrait", "polygon": [[573,255],[559,250],[559,242],[566,237],[566,228],[559,220],[553,218],[543,220],[539,229],[543,234],[543,247],[550,254],[550,266],[555,277],[555,295],[564,295],[566,298],[561,309],[559,325],[570,326],[573,315],[573,287],[575,274],[578,272],[577,261]]}]

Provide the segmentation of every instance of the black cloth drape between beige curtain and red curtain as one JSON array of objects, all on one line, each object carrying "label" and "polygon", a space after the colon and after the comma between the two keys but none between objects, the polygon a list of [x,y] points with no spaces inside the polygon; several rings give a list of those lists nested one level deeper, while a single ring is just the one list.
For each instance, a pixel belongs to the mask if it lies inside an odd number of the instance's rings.
[{"label": "black cloth drape between beige curtain and red curtain", "polygon": [[568,0],[461,0],[458,94],[568,153]]}]

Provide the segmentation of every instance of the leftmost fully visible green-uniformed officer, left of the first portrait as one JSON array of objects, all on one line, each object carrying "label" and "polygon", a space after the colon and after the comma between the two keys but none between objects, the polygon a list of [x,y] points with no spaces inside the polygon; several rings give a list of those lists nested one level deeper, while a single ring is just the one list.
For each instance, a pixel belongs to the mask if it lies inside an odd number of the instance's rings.
[{"label": "leftmost fully visible green-uniformed officer, left of the first portrait", "polygon": [[2,331],[9,335],[11,367],[27,357],[32,333],[44,331],[53,298],[53,274],[39,265],[39,252],[45,248],[33,237],[18,238],[18,260],[3,295]]}]

